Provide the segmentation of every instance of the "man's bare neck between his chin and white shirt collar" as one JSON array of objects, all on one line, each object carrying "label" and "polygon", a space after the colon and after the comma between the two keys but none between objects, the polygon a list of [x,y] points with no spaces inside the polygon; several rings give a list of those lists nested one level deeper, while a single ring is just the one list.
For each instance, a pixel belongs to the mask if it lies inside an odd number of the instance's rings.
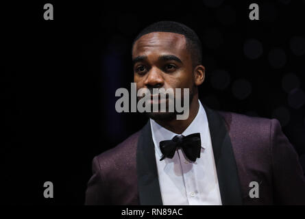
[{"label": "man's bare neck between his chin and white shirt collar", "polygon": [[199,110],[199,103],[198,103],[198,94],[193,96],[193,101],[190,105],[190,112],[188,114],[188,118],[186,120],[170,120],[170,121],[161,121],[155,120],[156,123],[172,131],[173,133],[181,134],[184,130],[193,122],[194,118],[196,117]]}]

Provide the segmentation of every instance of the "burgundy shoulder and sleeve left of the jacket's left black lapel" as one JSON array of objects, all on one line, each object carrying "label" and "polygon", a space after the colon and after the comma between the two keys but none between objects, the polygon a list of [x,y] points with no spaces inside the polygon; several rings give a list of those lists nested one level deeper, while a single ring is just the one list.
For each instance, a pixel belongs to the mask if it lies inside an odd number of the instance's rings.
[{"label": "burgundy shoulder and sleeve left of the jacket's left black lapel", "polygon": [[[136,146],[138,131],[114,148],[95,156],[86,203],[137,205]],[[126,189],[127,188],[127,189]]]}]

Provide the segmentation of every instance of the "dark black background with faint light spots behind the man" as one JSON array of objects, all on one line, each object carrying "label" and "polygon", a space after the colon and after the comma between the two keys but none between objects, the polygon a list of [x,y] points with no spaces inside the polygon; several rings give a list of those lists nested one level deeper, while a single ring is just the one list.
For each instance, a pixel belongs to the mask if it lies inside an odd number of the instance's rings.
[{"label": "dark black background with faint light spots behind the man", "polygon": [[[45,3],[53,21],[43,19]],[[249,20],[250,3],[260,21]],[[118,114],[114,93],[130,90],[133,38],[162,20],[202,39],[200,99],[277,118],[305,169],[305,1],[14,2],[1,3],[0,16],[3,203],[84,203],[93,157],[147,120]],[[54,198],[43,197],[45,181]]]}]

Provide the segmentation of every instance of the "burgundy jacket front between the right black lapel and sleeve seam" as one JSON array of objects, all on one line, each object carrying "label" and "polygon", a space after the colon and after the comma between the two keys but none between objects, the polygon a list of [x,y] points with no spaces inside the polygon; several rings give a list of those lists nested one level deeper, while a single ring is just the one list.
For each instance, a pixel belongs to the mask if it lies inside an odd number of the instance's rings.
[{"label": "burgundy jacket front between the right black lapel and sleeve seam", "polygon": [[[247,205],[272,204],[271,136],[274,125],[278,124],[278,121],[232,112],[219,112],[219,114],[228,127],[241,182],[243,201]],[[260,198],[249,198],[249,183],[252,181],[262,184],[260,194],[263,195],[260,195]]]}]

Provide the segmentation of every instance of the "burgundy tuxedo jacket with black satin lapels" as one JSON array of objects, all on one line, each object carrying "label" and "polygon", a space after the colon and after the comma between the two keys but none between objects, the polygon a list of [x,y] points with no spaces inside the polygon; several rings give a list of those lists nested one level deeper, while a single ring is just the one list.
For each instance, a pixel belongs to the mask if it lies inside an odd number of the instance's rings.
[{"label": "burgundy tuxedo jacket with black satin lapels", "polygon": [[[204,109],[223,205],[305,205],[304,172],[278,120]],[[85,204],[162,205],[149,123],[93,159]]]}]

